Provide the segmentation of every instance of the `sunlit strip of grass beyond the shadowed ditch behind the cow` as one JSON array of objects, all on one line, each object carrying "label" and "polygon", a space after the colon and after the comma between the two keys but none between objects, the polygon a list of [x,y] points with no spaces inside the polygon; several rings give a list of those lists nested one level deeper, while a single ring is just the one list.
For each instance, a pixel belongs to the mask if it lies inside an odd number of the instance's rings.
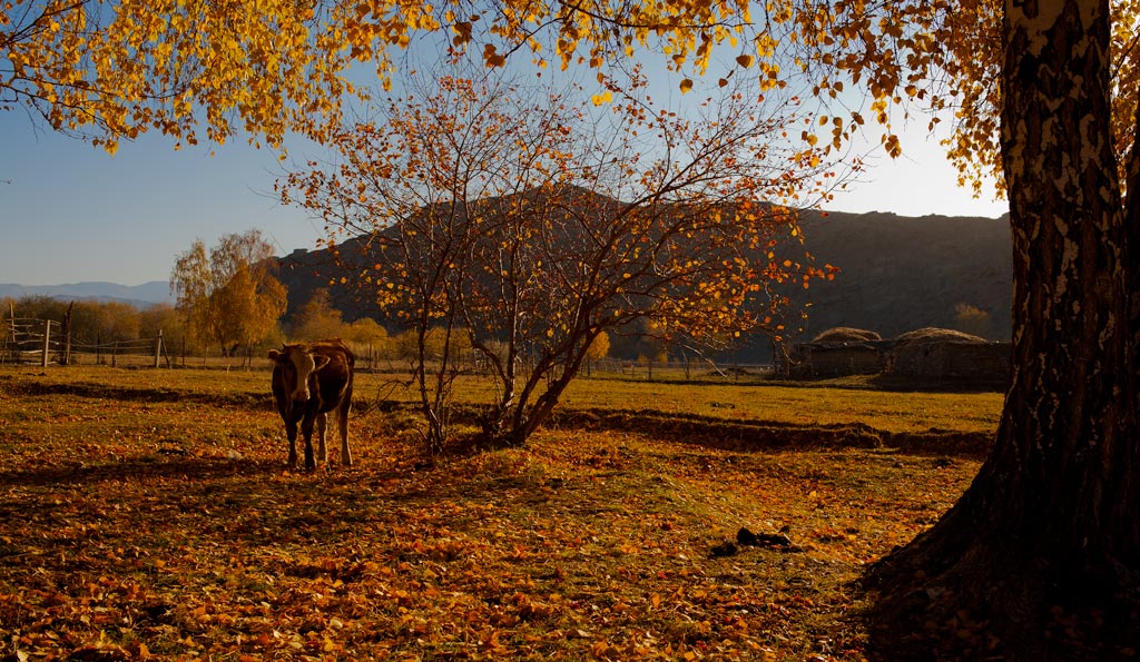
[{"label": "sunlit strip of grass beyond the shadowed ditch behind the cow", "polygon": [[[0,367],[0,387],[3,379],[16,377],[76,387],[87,384],[270,401],[268,367],[229,370]],[[356,400],[360,403],[377,400],[415,402],[416,399],[408,375],[357,375]],[[484,404],[492,399],[494,384],[489,378],[462,376],[455,384],[457,403]],[[563,411],[649,410],[796,426],[862,423],[889,433],[926,432],[931,428],[988,433],[996,430],[1002,394],[881,391],[852,379],[780,384],[579,377],[563,394],[560,407]]]}]

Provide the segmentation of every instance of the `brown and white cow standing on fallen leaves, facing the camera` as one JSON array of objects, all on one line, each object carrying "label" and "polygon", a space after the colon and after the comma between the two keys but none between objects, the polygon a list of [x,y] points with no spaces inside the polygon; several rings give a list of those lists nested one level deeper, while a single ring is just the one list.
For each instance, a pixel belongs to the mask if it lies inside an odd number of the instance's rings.
[{"label": "brown and white cow standing on fallen leaves, facing the camera", "polygon": [[352,464],[349,452],[349,409],[352,407],[352,366],[356,357],[340,338],[314,343],[291,343],[269,350],[274,361],[274,400],[285,420],[288,466],[296,467],[296,428],[304,436],[304,467],[315,469],[312,426],[317,425],[320,461],[328,461],[325,448],[326,415],[336,414],[341,433],[341,464]]}]

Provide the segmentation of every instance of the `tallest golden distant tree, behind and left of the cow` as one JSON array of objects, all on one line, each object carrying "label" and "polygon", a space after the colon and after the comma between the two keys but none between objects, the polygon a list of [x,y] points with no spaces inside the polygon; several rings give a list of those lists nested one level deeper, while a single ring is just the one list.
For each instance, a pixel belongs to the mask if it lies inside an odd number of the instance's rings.
[{"label": "tallest golden distant tree, behind and left of the cow", "polygon": [[270,272],[272,254],[261,231],[249,230],[223,236],[209,258],[201,239],[178,256],[171,291],[195,337],[231,357],[276,330],[286,291]]}]

